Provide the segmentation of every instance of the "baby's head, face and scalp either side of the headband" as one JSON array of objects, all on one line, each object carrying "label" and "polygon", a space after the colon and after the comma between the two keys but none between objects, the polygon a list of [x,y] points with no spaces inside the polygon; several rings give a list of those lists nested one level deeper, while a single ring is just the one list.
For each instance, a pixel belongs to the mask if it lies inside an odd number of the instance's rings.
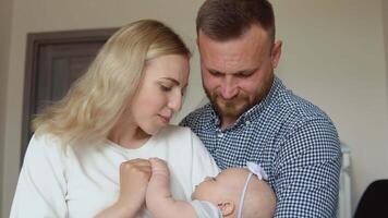
[{"label": "baby's head, face and scalp either side of the headband", "polygon": [[[215,178],[206,178],[192,195],[193,199],[207,201],[218,206],[223,217],[238,217],[239,204],[250,171],[245,168],[229,168]],[[274,217],[276,196],[271,187],[252,175],[244,196],[243,218]]]}]

